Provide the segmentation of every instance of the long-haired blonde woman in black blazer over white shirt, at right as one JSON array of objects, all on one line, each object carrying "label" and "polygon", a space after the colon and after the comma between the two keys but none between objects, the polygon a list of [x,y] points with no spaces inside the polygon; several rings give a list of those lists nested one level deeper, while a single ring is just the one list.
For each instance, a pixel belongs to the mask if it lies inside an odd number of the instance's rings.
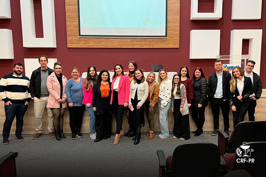
[{"label": "long-haired blonde woman in black blazer over white shirt, at right", "polygon": [[230,90],[230,102],[235,128],[239,122],[244,121],[249,108],[249,95],[254,93],[251,78],[244,76],[244,72],[239,66],[233,68]]}]

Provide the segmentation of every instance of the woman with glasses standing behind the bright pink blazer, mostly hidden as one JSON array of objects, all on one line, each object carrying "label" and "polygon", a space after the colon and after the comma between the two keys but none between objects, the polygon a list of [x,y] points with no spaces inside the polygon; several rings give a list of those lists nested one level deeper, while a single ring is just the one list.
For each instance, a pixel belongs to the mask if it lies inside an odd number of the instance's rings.
[{"label": "woman with glasses standing behind the bright pink blazer, mostly hidden", "polygon": [[[126,75],[129,76],[130,83],[134,80],[134,72],[137,68],[138,68],[138,64],[135,61],[131,60],[128,62],[128,70],[129,71],[126,72]],[[128,119],[128,123],[129,123],[129,130],[124,134],[124,136],[133,137],[136,135],[136,132],[135,132],[134,127],[132,127],[130,125],[130,122],[129,122],[129,108],[128,107],[126,107],[126,117]]]}]

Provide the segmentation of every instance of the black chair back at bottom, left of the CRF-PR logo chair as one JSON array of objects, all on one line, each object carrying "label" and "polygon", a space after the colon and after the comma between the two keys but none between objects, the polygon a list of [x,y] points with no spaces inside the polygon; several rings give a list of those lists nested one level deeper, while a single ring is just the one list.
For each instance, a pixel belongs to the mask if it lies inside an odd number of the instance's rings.
[{"label": "black chair back at bottom, left of the CRF-PR logo chair", "polygon": [[183,143],[173,152],[171,171],[178,176],[215,176],[220,158],[220,150],[213,143]]}]

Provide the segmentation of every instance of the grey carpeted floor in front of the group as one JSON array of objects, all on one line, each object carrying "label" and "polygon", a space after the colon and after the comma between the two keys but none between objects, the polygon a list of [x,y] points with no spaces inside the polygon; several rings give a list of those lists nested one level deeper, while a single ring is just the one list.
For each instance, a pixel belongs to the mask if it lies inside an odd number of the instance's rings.
[{"label": "grey carpeted floor in front of the group", "polygon": [[165,156],[172,155],[177,145],[184,142],[212,142],[217,145],[218,136],[203,132],[199,137],[191,133],[189,140],[160,139],[156,133],[148,140],[142,133],[140,144],[133,145],[132,138],[123,137],[118,145],[113,145],[114,135],[107,140],[93,142],[89,134],[71,140],[56,141],[49,135],[32,140],[34,135],[23,135],[18,141],[10,135],[8,145],[0,144],[0,157],[9,152],[18,152],[16,158],[17,176],[90,176],[90,177],[156,177],[159,174],[157,150],[163,150]]}]

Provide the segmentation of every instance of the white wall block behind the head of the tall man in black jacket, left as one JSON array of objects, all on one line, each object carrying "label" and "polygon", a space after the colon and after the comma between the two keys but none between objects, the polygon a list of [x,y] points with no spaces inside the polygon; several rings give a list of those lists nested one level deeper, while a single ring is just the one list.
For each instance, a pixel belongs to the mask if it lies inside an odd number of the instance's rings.
[{"label": "white wall block behind the head of the tall man in black jacket, left", "polygon": [[[47,66],[53,69],[53,64],[57,62],[57,58],[48,58]],[[38,58],[24,58],[25,76],[31,77],[32,72],[40,67]]]}]

